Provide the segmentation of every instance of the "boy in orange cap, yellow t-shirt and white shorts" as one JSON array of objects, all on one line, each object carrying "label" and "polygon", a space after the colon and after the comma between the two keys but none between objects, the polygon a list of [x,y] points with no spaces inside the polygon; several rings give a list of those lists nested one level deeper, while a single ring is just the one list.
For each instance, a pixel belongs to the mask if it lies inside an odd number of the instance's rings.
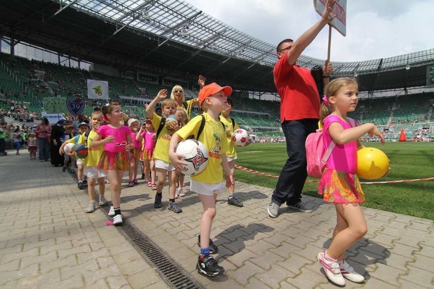
[{"label": "boy in orange cap, yellow t-shirt and white shorts", "polygon": [[[199,104],[202,107],[205,125],[202,134],[199,136],[205,147],[208,149],[209,159],[206,168],[198,175],[191,176],[190,190],[199,194],[203,206],[203,215],[200,222],[200,255],[196,263],[196,269],[200,274],[208,277],[221,275],[225,269],[217,264],[217,261],[210,255],[218,251],[211,239],[211,225],[215,217],[215,199],[223,191],[222,166],[225,170],[226,187],[233,186],[234,180],[230,172],[226,152],[229,149],[226,141],[226,131],[219,121],[219,114],[227,107],[227,97],[232,93],[229,86],[220,86],[217,83],[205,85],[199,92]],[[197,135],[202,116],[193,118],[184,127],[173,134],[169,146],[169,157],[174,167],[182,171],[185,163],[180,160],[183,155],[175,153],[177,143],[188,136]]]}]

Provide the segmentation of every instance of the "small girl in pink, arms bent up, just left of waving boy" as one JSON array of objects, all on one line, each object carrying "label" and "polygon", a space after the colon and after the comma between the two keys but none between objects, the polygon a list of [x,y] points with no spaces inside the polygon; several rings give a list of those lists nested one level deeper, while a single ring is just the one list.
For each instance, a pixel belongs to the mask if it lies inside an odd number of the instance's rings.
[{"label": "small girl in pink, arms bent up, just left of waving boy", "polygon": [[[155,184],[154,167],[155,134],[156,132],[151,120],[147,119],[145,121],[145,125],[141,126],[139,133],[136,136],[138,141],[142,141],[142,139],[144,139],[141,159],[143,160],[146,183],[148,187],[152,188],[152,190],[157,189]],[[149,172],[151,173],[151,179],[149,179]]]}]

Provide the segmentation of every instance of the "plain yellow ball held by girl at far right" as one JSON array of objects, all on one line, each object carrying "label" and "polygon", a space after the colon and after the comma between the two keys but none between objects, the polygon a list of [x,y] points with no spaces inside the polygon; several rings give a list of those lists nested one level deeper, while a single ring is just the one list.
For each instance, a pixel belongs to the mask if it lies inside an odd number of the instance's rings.
[{"label": "plain yellow ball held by girl at far right", "polygon": [[367,180],[375,180],[386,175],[389,158],[381,150],[363,148],[357,151],[356,174]]}]

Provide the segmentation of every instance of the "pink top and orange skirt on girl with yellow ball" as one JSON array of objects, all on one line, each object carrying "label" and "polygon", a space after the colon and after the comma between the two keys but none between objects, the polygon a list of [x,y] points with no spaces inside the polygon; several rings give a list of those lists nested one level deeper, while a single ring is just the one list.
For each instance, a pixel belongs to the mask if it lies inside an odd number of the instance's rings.
[{"label": "pink top and orange skirt on girl with yellow ball", "polygon": [[[329,115],[325,118],[322,137],[324,149],[326,150],[329,143],[332,141],[332,137],[329,134],[329,126],[334,122],[341,124],[343,129],[351,128],[350,124],[347,124],[336,115]],[[359,178],[355,174],[356,168],[356,141],[351,141],[344,145],[336,144],[327,164],[325,164],[322,177],[319,180],[318,194],[323,195],[324,201],[329,203],[363,203],[365,201],[365,195],[360,186]]]}]

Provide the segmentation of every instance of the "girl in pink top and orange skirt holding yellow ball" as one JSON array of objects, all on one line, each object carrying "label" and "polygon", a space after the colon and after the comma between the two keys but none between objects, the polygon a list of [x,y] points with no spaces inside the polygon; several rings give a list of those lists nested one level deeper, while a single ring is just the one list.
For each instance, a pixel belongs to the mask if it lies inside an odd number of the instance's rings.
[{"label": "girl in pink top and orange skirt holding yellow ball", "polygon": [[323,195],[325,201],[335,205],[337,224],[329,249],[320,252],[317,257],[325,275],[337,285],[344,285],[344,278],[356,283],[365,279],[345,261],[345,251],[367,232],[366,220],[359,206],[365,196],[355,174],[357,150],[363,148],[359,138],[366,133],[376,135],[384,144],[384,136],[374,124],[352,127],[346,117],[348,112],[356,109],[358,90],[355,79],[334,79],[325,87],[326,95],[319,112],[324,148],[327,150],[331,141],[336,142],[336,147],[325,165],[318,193]]}]

